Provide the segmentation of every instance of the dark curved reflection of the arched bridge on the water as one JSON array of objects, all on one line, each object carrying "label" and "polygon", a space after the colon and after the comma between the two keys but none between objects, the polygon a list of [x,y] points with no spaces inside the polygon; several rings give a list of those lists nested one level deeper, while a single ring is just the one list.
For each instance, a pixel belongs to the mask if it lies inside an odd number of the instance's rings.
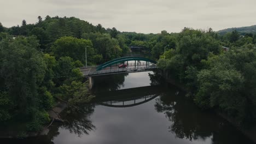
[{"label": "dark curved reflection of the arched bridge on the water", "polygon": [[108,107],[132,107],[147,103],[161,94],[160,86],[145,86],[117,91],[96,92],[92,103]]}]

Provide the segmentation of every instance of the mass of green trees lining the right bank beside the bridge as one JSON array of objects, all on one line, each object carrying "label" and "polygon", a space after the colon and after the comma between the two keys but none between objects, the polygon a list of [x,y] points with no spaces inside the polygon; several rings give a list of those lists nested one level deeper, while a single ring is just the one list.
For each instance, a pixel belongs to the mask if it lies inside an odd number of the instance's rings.
[{"label": "mass of green trees lining the right bank beside the bridge", "polygon": [[[228,46],[228,47],[223,47]],[[164,58],[165,56],[165,58]],[[256,47],[253,35],[223,36],[184,28],[176,49],[159,59],[160,68],[185,83],[202,109],[214,109],[250,126],[256,120]]]}]

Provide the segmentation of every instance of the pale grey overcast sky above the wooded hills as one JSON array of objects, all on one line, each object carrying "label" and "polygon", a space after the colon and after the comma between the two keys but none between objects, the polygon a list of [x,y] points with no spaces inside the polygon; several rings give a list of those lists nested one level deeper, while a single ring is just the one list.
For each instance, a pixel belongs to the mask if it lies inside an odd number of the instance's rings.
[{"label": "pale grey overcast sky above the wooded hills", "polygon": [[38,16],[75,16],[93,25],[138,33],[180,32],[183,27],[256,25],[256,0],[0,0],[5,27],[37,22]]}]

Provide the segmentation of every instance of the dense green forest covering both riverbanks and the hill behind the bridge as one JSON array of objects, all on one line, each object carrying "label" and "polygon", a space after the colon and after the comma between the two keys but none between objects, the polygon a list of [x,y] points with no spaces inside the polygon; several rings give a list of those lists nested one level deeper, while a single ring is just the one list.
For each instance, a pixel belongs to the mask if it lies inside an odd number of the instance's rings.
[{"label": "dense green forest covering both riverbanks and the hill behind the bridge", "polygon": [[23,20],[10,28],[0,23],[0,122],[42,129],[56,98],[79,106],[93,97],[79,70],[85,48],[88,64],[96,65],[129,55],[129,46],[141,46],[145,56],[185,84],[188,97],[202,109],[254,124],[255,43],[252,33],[184,28],[181,33],[141,34],[75,17],[38,16],[35,24]]}]

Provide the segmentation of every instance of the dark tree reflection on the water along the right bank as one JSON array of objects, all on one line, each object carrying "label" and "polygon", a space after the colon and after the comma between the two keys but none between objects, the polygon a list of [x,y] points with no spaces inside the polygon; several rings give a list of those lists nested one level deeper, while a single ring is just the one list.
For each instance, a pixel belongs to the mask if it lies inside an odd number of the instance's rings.
[{"label": "dark tree reflection on the water along the right bank", "polygon": [[178,139],[190,141],[211,138],[211,143],[252,143],[223,118],[199,110],[193,101],[185,98],[177,88],[155,99],[155,110],[164,113],[170,121],[169,131]]}]

